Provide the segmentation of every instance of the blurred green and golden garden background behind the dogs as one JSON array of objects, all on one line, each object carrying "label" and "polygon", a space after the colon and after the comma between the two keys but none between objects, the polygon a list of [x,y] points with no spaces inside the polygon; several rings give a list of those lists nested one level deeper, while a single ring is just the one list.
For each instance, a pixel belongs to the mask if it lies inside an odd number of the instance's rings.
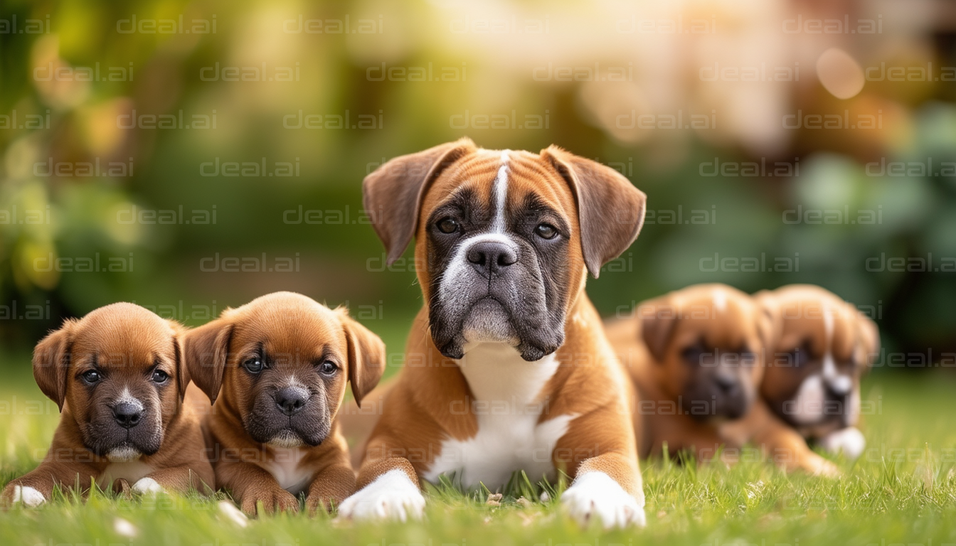
[{"label": "blurred green and golden garden background behind the dogs", "polygon": [[5,0],[0,63],[7,355],[118,300],[195,325],[276,290],[401,352],[421,293],[360,183],[468,136],[646,192],[604,315],[817,283],[894,366],[956,365],[951,2]]}]

